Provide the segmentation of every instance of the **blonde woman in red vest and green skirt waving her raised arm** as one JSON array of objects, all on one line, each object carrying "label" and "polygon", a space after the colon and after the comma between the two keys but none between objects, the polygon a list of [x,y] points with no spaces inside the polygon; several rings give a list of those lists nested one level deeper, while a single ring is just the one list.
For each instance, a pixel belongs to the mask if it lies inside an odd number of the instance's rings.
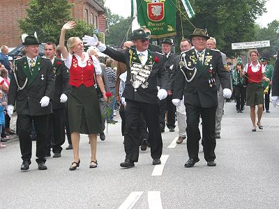
[{"label": "blonde woman in red vest and green skirt waving her raised arm", "polygon": [[[88,53],[84,52],[82,40],[78,37],[68,39],[68,50],[64,45],[66,30],[73,29],[74,27],[75,22],[64,24],[59,40],[63,60],[70,70],[70,85],[73,87],[68,98],[69,124],[74,155],[70,171],[74,171],[80,166],[80,134],[88,134],[91,144],[91,162],[89,167],[97,167],[97,134],[102,132],[102,121],[96,83],[102,91],[103,97],[107,100],[103,80],[100,77],[102,70],[96,56],[89,56]],[[96,72],[96,80],[94,79],[94,71]]]}]

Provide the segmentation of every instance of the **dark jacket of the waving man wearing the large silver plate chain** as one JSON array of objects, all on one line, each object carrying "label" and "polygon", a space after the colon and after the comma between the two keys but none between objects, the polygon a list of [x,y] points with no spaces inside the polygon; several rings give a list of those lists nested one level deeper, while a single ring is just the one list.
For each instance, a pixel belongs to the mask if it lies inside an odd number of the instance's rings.
[{"label": "dark jacket of the waving man wearing the large silver plate chain", "polygon": [[[163,89],[167,90],[167,82],[168,82],[168,75],[167,70],[163,67],[163,56],[156,52],[151,52],[151,56],[158,57],[159,61],[158,63],[153,63],[153,68],[151,71],[151,74],[149,75],[149,78],[147,79],[147,82],[149,83],[148,88],[142,88],[141,86],[137,88],[137,91],[135,91],[135,88],[132,86],[130,82],[130,49],[126,50],[115,50],[111,47],[107,47],[104,54],[107,54],[108,56],[112,57],[112,59],[115,59],[116,61],[119,61],[121,63],[125,63],[127,66],[127,79],[126,79],[126,86],[125,90],[123,92],[123,97],[128,100],[135,100],[139,102],[146,102],[146,103],[157,103],[157,77],[160,78],[160,82],[162,84]],[[131,50],[135,50],[132,49]]]}]

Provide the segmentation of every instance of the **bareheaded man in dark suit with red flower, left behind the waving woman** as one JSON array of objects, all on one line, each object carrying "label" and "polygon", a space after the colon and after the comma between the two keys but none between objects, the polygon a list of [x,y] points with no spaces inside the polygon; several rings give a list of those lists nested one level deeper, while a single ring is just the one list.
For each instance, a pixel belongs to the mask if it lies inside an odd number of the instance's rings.
[{"label": "bareheaded man in dark suit with red flower, left behind the waving woman", "polygon": [[[53,130],[53,157],[61,157],[61,147],[65,142],[66,102],[70,91],[68,68],[61,59],[55,56],[56,45],[54,42],[45,43],[45,56],[50,59],[55,75],[54,98],[52,100],[53,114],[49,117],[48,129]],[[47,144],[47,154],[50,154],[50,138]]]}]

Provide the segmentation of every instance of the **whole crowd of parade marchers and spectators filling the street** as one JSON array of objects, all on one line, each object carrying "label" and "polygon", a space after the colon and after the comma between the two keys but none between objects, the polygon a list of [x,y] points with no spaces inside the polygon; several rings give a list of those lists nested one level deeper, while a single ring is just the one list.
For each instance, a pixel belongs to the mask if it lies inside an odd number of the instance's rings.
[{"label": "whole crowd of parade marchers and spectators filling the street", "polygon": [[[216,139],[221,138],[226,99],[236,100],[237,113],[242,113],[245,105],[250,107],[252,132],[257,127],[264,129],[261,118],[264,108],[269,113],[273,67],[267,65],[268,59],[259,59],[257,50],[250,50],[250,63],[244,65],[239,58],[232,65],[217,49],[216,39],[203,29],[183,38],[181,54],[176,55],[171,38],[164,38],[161,47],[152,45],[151,31],[144,27],[133,31],[122,50],[103,44],[96,35],[65,40],[66,32],[74,27],[75,22],[64,24],[59,47],[46,42],[43,57],[38,56],[36,34],[22,35],[26,55],[13,63],[7,60],[8,47],[1,47],[0,132],[14,134],[9,121],[16,106],[22,171],[29,170],[31,164],[32,139],[36,140],[38,169],[47,169],[51,149],[53,157],[61,157],[65,130],[66,149],[73,149],[69,170],[80,167],[80,134],[89,137],[89,168],[98,167],[97,136],[105,140],[105,121],[117,123],[117,104],[126,153],[120,164],[123,168],[135,167],[139,149],[147,147],[151,148],[152,164],[161,164],[161,134],[165,127],[174,132],[176,121],[176,143],[187,139],[189,158],[184,166],[199,162],[202,139],[204,159],[209,167],[215,167]],[[85,46],[89,46],[86,52]],[[105,63],[100,62],[97,51],[109,56]],[[273,95],[275,104],[277,96]],[[4,148],[5,137],[2,139]]]}]

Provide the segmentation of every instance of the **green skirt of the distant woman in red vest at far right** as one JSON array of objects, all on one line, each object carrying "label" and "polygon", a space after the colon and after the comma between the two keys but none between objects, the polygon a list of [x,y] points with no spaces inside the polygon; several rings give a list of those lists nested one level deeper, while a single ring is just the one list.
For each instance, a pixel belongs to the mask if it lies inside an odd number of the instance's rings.
[{"label": "green skirt of the distant woman in red vest at far right", "polygon": [[246,105],[255,106],[264,104],[264,89],[262,84],[252,83],[246,88]]}]

